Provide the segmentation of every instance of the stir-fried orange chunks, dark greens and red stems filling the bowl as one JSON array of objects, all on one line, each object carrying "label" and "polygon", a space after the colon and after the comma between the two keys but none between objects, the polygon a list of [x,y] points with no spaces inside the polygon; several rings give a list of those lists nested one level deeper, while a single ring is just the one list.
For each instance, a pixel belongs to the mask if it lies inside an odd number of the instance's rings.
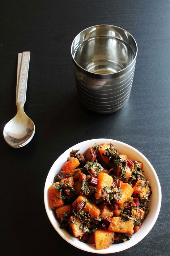
[{"label": "stir-fried orange chunks, dark greens and red stems filling the bowl", "polygon": [[97,250],[130,240],[142,226],[152,193],[142,168],[112,144],[90,147],[84,156],[72,150],[49,187],[60,227]]}]

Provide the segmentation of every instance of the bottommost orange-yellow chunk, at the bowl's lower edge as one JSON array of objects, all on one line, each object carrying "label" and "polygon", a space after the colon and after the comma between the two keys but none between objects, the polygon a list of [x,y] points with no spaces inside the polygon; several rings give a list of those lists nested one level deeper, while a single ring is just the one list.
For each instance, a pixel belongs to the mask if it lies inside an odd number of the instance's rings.
[{"label": "bottommost orange-yellow chunk, at the bowl's lower edge", "polygon": [[107,249],[113,243],[114,232],[97,229],[94,232],[96,250]]}]

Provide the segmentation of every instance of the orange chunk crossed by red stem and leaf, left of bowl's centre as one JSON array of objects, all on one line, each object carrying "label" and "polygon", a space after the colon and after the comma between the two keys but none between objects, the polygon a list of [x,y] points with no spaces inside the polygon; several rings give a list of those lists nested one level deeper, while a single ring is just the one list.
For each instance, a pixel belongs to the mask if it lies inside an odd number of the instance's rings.
[{"label": "orange chunk crossed by red stem and leaf, left of bowl's centre", "polygon": [[87,196],[78,196],[78,198],[72,203],[73,208],[76,207],[77,202],[81,203],[83,200],[87,200],[86,206],[84,207],[84,212],[91,213],[91,219],[94,217],[98,218],[100,215],[100,209]]}]

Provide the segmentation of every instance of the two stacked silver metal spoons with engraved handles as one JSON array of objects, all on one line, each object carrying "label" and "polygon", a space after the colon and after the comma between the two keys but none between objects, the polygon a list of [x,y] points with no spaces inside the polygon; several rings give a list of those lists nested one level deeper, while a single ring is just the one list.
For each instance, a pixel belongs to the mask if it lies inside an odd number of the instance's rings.
[{"label": "two stacked silver metal spoons with engraved handles", "polygon": [[4,127],[3,136],[11,147],[23,147],[34,136],[35,125],[25,114],[23,105],[27,91],[27,79],[29,68],[30,52],[18,54],[16,105],[17,114]]}]

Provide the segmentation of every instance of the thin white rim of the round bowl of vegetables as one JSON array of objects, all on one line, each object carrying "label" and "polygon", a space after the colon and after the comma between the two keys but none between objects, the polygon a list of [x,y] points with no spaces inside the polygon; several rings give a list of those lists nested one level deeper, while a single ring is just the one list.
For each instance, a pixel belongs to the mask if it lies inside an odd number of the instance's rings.
[{"label": "thin white rim of the round bowl of vegetables", "polygon": [[[158,186],[158,203],[157,203],[157,209],[156,209],[156,212],[155,212],[155,214],[154,214],[154,216],[153,216],[153,218],[152,218],[152,221],[150,222],[150,225],[149,225],[149,227],[148,227],[148,229],[146,230],[146,231],[144,231],[143,232],[143,235],[142,236],[138,236],[138,238],[134,241],[134,242],[132,242],[132,243],[130,243],[128,246],[126,246],[126,248],[123,248],[123,249],[121,249],[121,250],[116,250],[116,251],[114,251],[114,252],[108,252],[107,250],[110,248],[107,248],[107,249],[102,249],[102,250],[96,250],[96,249],[93,249],[93,248],[91,248],[91,247],[89,247],[89,249],[84,249],[84,248],[82,248],[81,246],[79,246],[79,245],[75,245],[72,241],[70,241],[70,239],[69,238],[67,238],[67,237],[65,237],[65,235],[64,235],[64,232],[62,232],[62,229],[57,229],[55,226],[54,226],[54,224],[53,224],[53,221],[51,220],[51,218],[50,218],[50,216],[49,216],[49,209],[48,209],[48,206],[49,206],[49,204],[48,204],[48,188],[49,188],[49,183],[47,184],[47,182],[48,182],[48,177],[50,176],[50,172],[51,172],[51,170],[53,170],[53,167],[56,165],[56,162],[59,160],[59,159],[61,159],[62,158],[62,156],[64,155],[64,154],[66,154],[66,152],[67,151],[71,151],[73,148],[76,148],[78,145],[80,145],[80,144],[83,144],[83,143],[90,143],[90,142],[93,142],[94,141],[94,144],[95,144],[95,142],[97,141],[97,142],[99,142],[100,143],[100,141],[105,141],[106,143],[108,142],[108,143],[111,143],[110,141],[112,141],[113,142],[113,144],[114,143],[120,143],[121,145],[124,145],[124,146],[128,146],[130,149],[133,149],[133,150],[135,150],[143,159],[145,159],[145,161],[147,162],[147,164],[150,166],[150,168],[152,169],[152,171],[153,171],[153,173],[154,173],[154,175],[155,175],[155,179],[156,179],[156,182],[157,182],[157,186]],[[102,143],[101,142],[101,143]],[[103,142],[104,143],[104,142]],[[99,144],[100,145],[100,144]],[[45,210],[46,210],[46,213],[47,213],[47,216],[48,216],[48,218],[49,218],[49,221],[51,222],[51,224],[52,224],[52,226],[55,228],[55,230],[57,231],[57,233],[64,239],[64,240],[66,240],[69,244],[71,244],[71,245],[73,245],[74,247],[76,247],[76,248],[78,248],[78,249],[81,249],[81,250],[83,250],[83,251],[86,251],[86,252],[91,252],[91,253],[96,253],[96,254],[110,254],[110,253],[116,253],[116,252],[120,252],[120,251],[123,251],[123,250],[126,250],[126,249],[129,249],[130,247],[132,247],[132,246],[134,246],[134,245],[136,245],[138,242],[140,242],[145,236],[147,236],[147,234],[151,231],[151,229],[152,229],[152,227],[154,226],[154,224],[155,224],[155,222],[156,222],[156,220],[157,220],[157,218],[158,218],[158,215],[159,215],[159,211],[160,211],[160,207],[161,207],[161,199],[162,199],[162,192],[161,192],[161,186],[160,186],[160,182],[159,182],[159,179],[158,179],[158,176],[157,176],[157,174],[156,174],[156,172],[155,172],[155,169],[153,168],[153,166],[151,165],[151,163],[149,162],[149,160],[140,152],[140,151],[138,151],[137,149],[135,149],[134,147],[132,147],[132,146],[130,146],[130,145],[128,145],[128,144],[126,144],[126,143],[124,143],[124,142],[121,142],[121,141],[117,141],[117,140],[113,140],[113,139],[105,139],[105,138],[100,138],[100,139],[91,139],[91,140],[87,140],[87,141],[82,141],[82,142],[79,142],[79,143],[77,143],[77,144],[75,144],[74,146],[71,146],[69,149],[67,149],[67,150],[65,150],[63,153],[62,153],[62,155],[60,155],[56,160],[55,160],[55,162],[53,163],[53,165],[51,166],[51,168],[50,168],[50,170],[49,170],[49,173],[48,173],[48,175],[47,175],[47,178],[46,178],[46,181],[45,181],[45,187],[44,187],[44,204],[45,204]],[[50,209],[50,211],[53,211],[52,209]],[[57,219],[56,219],[56,221],[57,221]],[[69,233],[68,233],[69,234]],[[70,235],[71,236],[71,235]],[[125,244],[125,243],[123,243],[123,244]],[[119,244],[120,245],[120,244]],[[121,244],[122,245],[122,244]]]}]

